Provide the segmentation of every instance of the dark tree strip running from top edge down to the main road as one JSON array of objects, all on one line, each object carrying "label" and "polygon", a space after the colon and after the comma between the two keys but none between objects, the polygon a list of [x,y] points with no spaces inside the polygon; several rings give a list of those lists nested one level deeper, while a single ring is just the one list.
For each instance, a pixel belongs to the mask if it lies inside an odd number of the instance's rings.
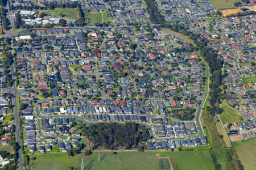
[{"label": "dark tree strip running from top edge down to the main road", "polygon": [[164,17],[160,14],[158,7],[155,5],[156,1],[154,0],[145,0],[146,2],[146,10],[147,13],[150,15],[150,20],[154,24],[163,24]]}]

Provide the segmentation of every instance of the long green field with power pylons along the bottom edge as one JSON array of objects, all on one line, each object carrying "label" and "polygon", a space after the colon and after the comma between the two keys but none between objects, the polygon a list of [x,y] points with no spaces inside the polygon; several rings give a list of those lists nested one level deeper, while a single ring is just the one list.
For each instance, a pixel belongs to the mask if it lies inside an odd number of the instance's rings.
[{"label": "long green field with power pylons along the bottom edge", "polygon": [[[100,154],[101,162],[98,162]],[[80,169],[81,159],[84,158],[85,169],[160,169],[159,156],[169,156],[179,169],[214,169],[209,150],[181,152],[94,152],[91,156],[83,154],[70,157],[67,154],[38,154],[31,160],[31,168],[44,169]],[[42,164],[44,166],[42,166]]]}]

